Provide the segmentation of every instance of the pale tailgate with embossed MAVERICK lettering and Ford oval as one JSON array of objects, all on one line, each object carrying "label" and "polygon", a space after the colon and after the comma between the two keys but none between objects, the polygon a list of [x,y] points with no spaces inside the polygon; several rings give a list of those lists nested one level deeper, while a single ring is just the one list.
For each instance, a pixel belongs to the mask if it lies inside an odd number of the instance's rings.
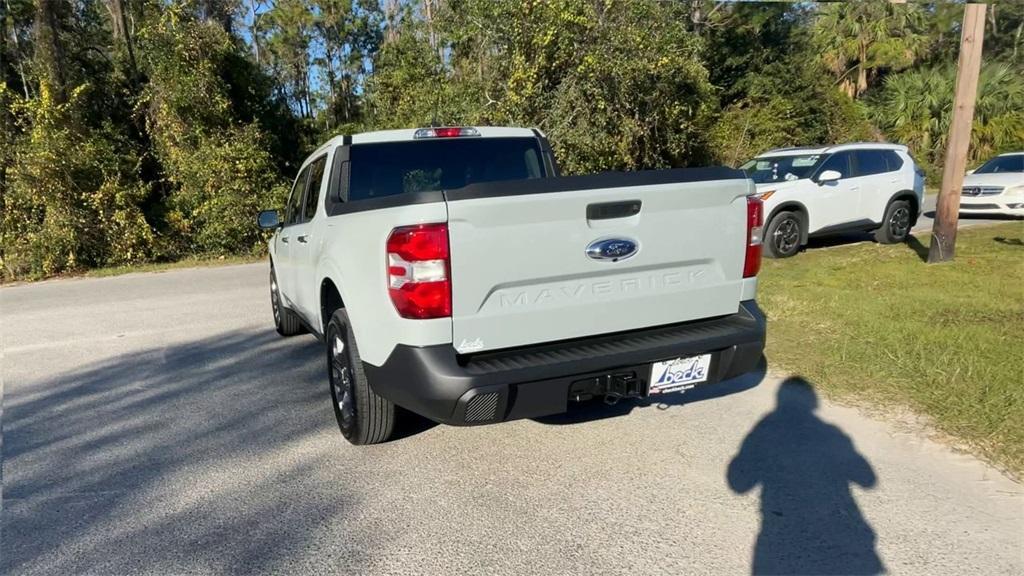
[{"label": "pale tailgate with embossed MAVERICK lettering and Ford oval", "polygon": [[[456,349],[734,314],[752,188],[741,172],[690,169],[446,193]],[[593,205],[601,206],[588,211]],[[588,255],[589,246],[606,239],[635,243],[637,250],[617,260]]]}]

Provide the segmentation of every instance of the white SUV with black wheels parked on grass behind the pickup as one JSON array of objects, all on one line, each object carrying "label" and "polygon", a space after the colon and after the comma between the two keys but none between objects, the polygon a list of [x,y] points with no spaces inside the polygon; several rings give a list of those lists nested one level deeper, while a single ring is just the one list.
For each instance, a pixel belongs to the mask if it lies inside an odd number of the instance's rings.
[{"label": "white SUV with black wheels parked on grass behind the pickup", "polygon": [[807,239],[873,231],[902,242],[921,214],[924,172],[905,146],[848,143],[766,152],[741,168],[757,184],[768,225],[764,251],[785,258]]}]

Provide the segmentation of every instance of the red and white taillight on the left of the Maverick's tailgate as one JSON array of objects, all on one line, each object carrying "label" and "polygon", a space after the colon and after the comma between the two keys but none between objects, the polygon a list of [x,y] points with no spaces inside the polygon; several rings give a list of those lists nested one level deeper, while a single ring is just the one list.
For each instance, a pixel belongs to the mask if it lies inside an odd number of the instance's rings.
[{"label": "red and white taillight on the left of the Maverick's tailgate", "polygon": [[396,228],[387,239],[388,294],[402,318],[452,316],[447,224]]}]

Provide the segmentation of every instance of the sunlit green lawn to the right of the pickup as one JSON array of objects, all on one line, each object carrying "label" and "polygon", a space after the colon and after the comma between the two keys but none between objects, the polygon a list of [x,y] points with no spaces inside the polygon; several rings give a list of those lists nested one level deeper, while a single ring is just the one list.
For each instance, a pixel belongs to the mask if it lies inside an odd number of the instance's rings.
[{"label": "sunlit green lawn to the right of the pickup", "polygon": [[908,406],[1024,472],[1024,223],[961,230],[955,260],[861,243],[765,260],[767,356],[828,396]]}]

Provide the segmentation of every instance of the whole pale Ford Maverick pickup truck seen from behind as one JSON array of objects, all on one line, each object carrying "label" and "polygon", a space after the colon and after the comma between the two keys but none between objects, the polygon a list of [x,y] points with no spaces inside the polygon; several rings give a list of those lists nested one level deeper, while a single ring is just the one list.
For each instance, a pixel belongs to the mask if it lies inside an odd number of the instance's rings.
[{"label": "whole pale Ford Maverick pickup truck seen from behind", "polygon": [[353,444],[677,393],[759,364],[762,205],[743,172],[559,176],[544,134],[337,136],[269,242],[278,331],[324,343]]}]

